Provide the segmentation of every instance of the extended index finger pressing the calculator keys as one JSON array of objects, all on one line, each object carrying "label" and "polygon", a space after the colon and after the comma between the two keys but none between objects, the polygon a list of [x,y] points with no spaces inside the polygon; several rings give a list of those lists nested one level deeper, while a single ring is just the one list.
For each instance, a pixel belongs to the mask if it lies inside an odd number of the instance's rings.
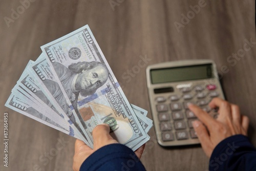
[{"label": "extended index finger pressing the calculator keys", "polygon": [[214,124],[216,123],[216,120],[212,118],[208,113],[200,109],[197,105],[189,104],[188,108],[190,111],[192,111],[200,121],[202,121],[209,130],[212,129]]}]

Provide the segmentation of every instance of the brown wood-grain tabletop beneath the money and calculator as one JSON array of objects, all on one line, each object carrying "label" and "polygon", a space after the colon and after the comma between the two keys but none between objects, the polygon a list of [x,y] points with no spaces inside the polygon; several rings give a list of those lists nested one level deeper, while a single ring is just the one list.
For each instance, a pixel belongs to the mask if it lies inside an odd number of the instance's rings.
[{"label": "brown wood-grain tabletop beneath the money and calculator", "polygon": [[[123,74],[146,66],[182,59],[213,59],[226,99],[250,118],[249,138],[256,146],[255,1],[30,0],[0,1],[0,170],[72,170],[75,139],[4,106],[29,59],[40,46],[89,24],[127,99],[148,111],[145,68],[127,79]],[[112,3],[112,5],[111,5]],[[193,6],[201,5],[195,14]],[[19,15],[13,15],[19,11]],[[182,15],[189,20],[182,20]],[[7,17],[9,22],[6,22]],[[184,23],[179,29],[175,23]],[[177,24],[176,23],[176,24]],[[250,46],[244,47],[246,41]],[[254,42],[254,43],[253,43]],[[244,51],[243,49],[247,50]],[[242,57],[234,58],[232,54]],[[231,57],[229,57],[231,56]],[[226,67],[225,67],[226,66]],[[227,68],[227,69],[225,69]],[[3,119],[8,113],[8,167],[3,164]],[[147,170],[208,169],[201,147],[163,148],[150,131],[141,158]],[[56,145],[62,145],[56,151]]]}]

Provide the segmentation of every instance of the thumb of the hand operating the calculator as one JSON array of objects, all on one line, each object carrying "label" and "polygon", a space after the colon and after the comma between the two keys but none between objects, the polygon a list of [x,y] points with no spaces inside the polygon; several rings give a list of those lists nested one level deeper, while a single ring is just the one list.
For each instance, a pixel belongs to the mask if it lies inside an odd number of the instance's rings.
[{"label": "thumb of the hand operating the calculator", "polygon": [[195,120],[193,121],[194,130],[197,133],[197,137],[202,145],[202,148],[205,154],[210,157],[212,153],[212,143],[210,141],[210,136],[206,130],[206,127],[202,124],[202,122]]}]

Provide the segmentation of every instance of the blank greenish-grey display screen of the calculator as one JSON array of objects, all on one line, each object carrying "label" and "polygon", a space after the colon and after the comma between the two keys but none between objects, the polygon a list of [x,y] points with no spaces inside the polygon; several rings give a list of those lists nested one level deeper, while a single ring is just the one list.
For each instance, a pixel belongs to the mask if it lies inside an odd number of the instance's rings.
[{"label": "blank greenish-grey display screen of the calculator", "polygon": [[211,64],[153,69],[150,72],[153,84],[214,77]]}]

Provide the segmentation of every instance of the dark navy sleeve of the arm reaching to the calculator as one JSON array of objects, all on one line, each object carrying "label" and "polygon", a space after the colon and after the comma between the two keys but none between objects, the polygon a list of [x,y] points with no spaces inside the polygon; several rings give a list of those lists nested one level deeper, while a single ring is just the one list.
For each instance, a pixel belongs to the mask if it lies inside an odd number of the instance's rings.
[{"label": "dark navy sleeve of the arm reaching to the calculator", "polygon": [[221,141],[212,152],[209,170],[256,170],[256,149],[246,136],[228,137]]}]

